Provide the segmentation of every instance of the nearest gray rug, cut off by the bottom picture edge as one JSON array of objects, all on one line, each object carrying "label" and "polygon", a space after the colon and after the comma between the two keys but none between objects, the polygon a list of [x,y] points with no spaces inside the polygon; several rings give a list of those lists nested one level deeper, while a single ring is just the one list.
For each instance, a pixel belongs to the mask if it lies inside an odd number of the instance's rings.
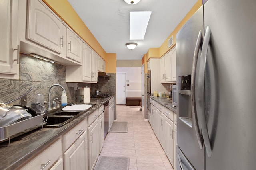
[{"label": "nearest gray rug, cut off by the bottom picture edge", "polygon": [[129,157],[100,156],[94,170],[129,170]]}]

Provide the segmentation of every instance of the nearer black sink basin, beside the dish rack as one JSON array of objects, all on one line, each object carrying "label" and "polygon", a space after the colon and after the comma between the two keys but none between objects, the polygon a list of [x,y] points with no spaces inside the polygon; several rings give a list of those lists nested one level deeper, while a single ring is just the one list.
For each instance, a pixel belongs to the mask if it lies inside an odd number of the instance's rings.
[{"label": "nearer black sink basin, beside the dish rack", "polygon": [[72,121],[75,117],[74,116],[48,116],[47,123],[44,125],[44,127],[62,127],[66,123]]}]

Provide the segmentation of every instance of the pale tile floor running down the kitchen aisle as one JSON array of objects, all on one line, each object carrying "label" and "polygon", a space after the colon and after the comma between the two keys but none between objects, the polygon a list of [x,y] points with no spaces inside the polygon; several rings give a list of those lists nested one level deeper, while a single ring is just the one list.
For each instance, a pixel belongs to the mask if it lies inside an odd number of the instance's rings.
[{"label": "pale tile floor running down the kitchen aisle", "polygon": [[128,132],[108,133],[100,156],[128,156],[129,170],[173,170],[139,108],[117,105],[116,112],[117,121],[128,121]]}]

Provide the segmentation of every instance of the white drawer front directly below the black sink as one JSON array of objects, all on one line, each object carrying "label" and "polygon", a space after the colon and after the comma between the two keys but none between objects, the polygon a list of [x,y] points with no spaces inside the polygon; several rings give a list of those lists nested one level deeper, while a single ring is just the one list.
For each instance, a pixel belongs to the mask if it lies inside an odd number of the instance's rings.
[{"label": "white drawer front directly below the black sink", "polygon": [[87,117],[81,121],[79,124],[77,124],[75,127],[73,127],[70,131],[65,133],[63,135],[63,147],[64,150],[67,150],[75,141],[78,139],[82,133],[87,131]]}]

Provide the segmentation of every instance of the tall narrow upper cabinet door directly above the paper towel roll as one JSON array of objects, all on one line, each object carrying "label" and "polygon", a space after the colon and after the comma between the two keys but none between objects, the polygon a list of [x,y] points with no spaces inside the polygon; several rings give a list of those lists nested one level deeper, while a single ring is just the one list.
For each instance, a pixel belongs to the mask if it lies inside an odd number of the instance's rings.
[{"label": "tall narrow upper cabinet door directly above the paper towel roll", "polygon": [[90,82],[92,80],[92,49],[84,44],[83,51],[83,81]]}]

